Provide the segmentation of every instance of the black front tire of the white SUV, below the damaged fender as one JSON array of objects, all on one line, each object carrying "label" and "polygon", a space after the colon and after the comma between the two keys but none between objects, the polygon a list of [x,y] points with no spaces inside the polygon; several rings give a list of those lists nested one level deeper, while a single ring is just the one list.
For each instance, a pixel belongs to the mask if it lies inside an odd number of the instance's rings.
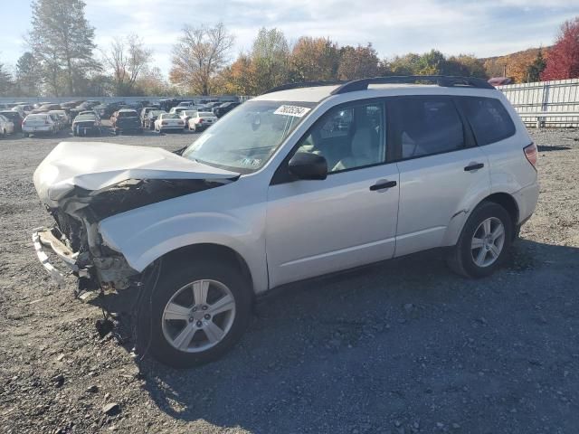
[{"label": "black front tire of the white SUV, below the damaged fender", "polygon": [[[199,281],[210,281],[206,287],[209,289],[206,291],[206,303],[198,304],[193,312],[197,300],[190,285],[197,282],[196,288],[200,289],[202,284]],[[219,298],[221,293],[224,294],[223,298]],[[207,313],[212,313],[211,307],[223,302],[225,297],[233,300],[234,309],[230,308],[207,319]],[[185,309],[185,313],[181,310],[166,310],[169,302],[178,309]],[[208,307],[207,310],[202,310],[204,307]],[[236,267],[218,260],[204,259],[195,263],[190,260],[181,261],[172,267],[162,268],[156,288],[148,288],[141,299],[138,309],[138,348],[148,347],[150,354],[159,362],[175,368],[191,368],[209,363],[221,357],[240,340],[249,324],[251,313],[252,290]],[[167,319],[168,315],[185,315],[188,319]],[[224,335],[220,340],[216,340],[214,335],[212,343],[204,330],[206,327],[214,331],[214,326],[223,327],[217,330],[224,330]],[[188,340],[180,341],[182,347],[187,349],[177,349],[176,341],[187,327],[188,330],[195,330],[193,335],[187,336]],[[170,340],[173,340],[173,344]]]}]

